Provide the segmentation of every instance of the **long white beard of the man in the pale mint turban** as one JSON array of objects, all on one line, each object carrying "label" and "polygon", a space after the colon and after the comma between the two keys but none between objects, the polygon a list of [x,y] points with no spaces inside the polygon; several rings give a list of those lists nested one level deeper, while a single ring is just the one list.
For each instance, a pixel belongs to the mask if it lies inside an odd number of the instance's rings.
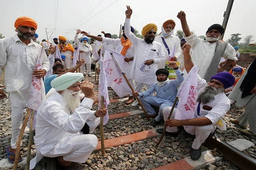
[{"label": "long white beard of the man in the pale mint turban", "polygon": [[75,109],[80,105],[80,93],[81,91],[72,91],[68,89],[65,89],[62,93],[67,107],[72,113],[74,113]]}]

